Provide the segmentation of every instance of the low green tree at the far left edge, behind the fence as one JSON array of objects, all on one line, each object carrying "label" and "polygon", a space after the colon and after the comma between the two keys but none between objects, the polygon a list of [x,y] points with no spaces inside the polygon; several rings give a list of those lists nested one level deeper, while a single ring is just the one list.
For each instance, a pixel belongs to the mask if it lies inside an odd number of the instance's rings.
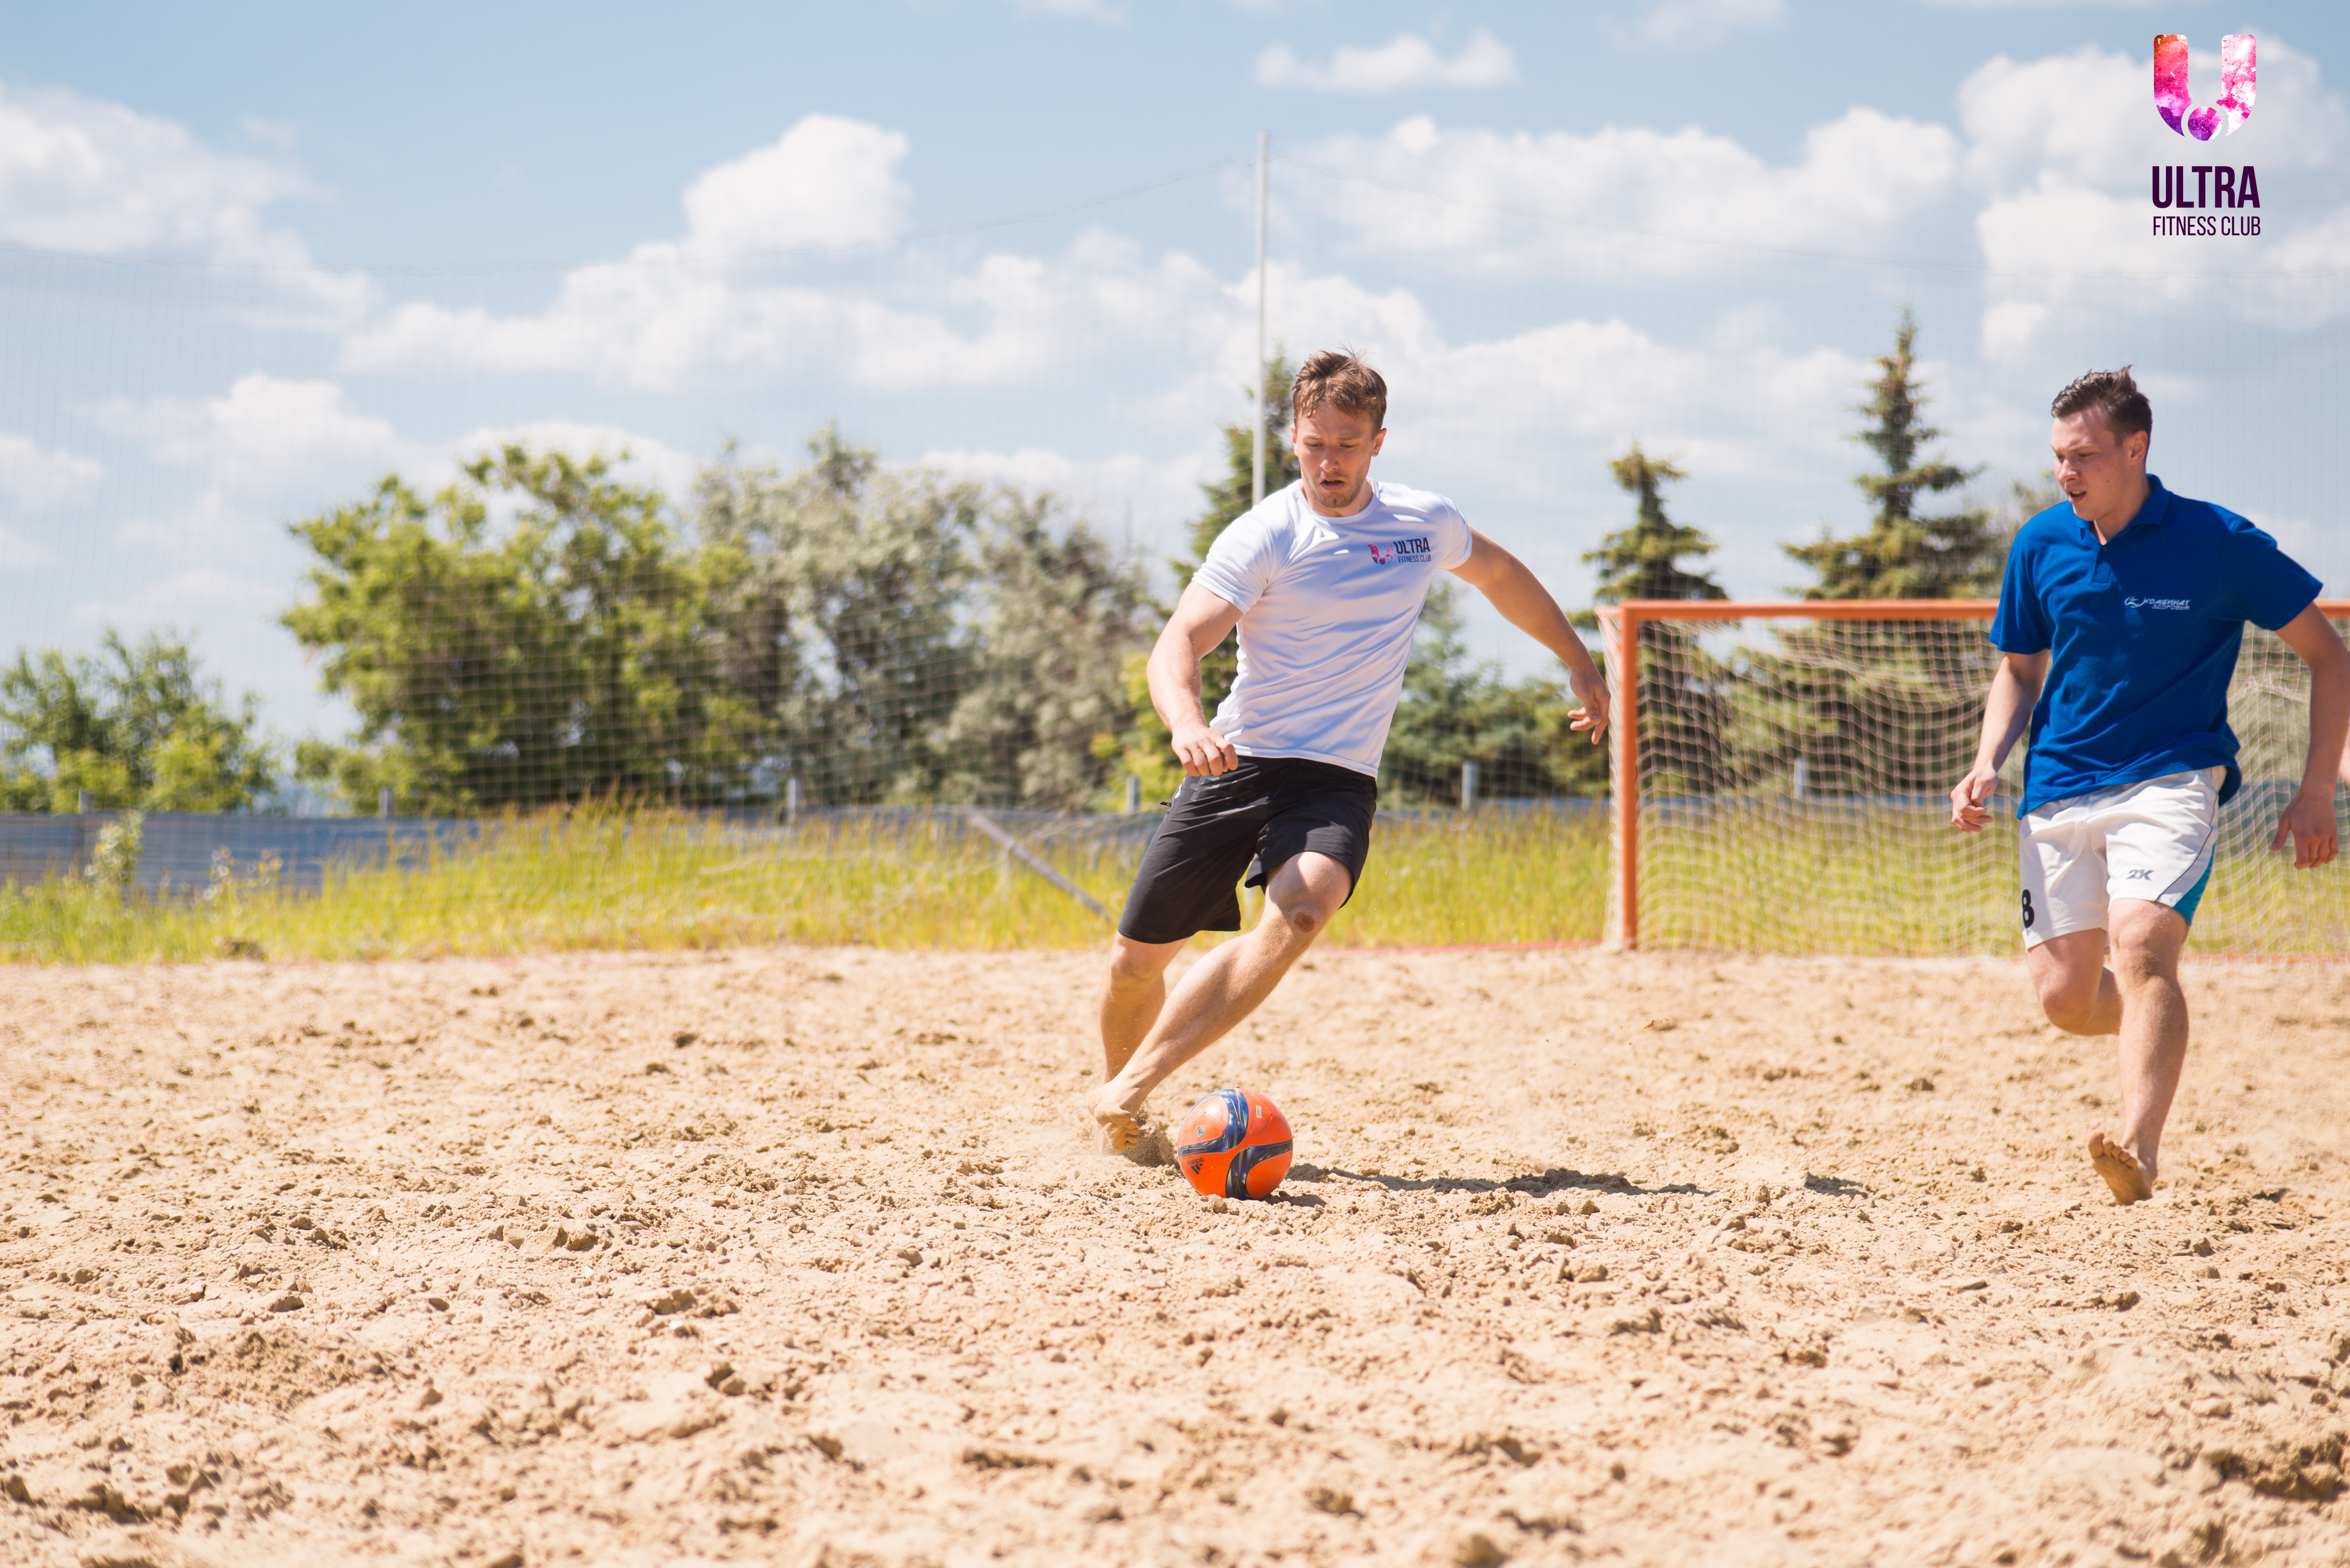
[{"label": "low green tree at the far left edge, behind the fence", "polygon": [[108,629],[99,657],[47,648],[0,671],[0,807],[235,812],[273,784],[261,697],[230,709],[183,638],[127,643]]}]

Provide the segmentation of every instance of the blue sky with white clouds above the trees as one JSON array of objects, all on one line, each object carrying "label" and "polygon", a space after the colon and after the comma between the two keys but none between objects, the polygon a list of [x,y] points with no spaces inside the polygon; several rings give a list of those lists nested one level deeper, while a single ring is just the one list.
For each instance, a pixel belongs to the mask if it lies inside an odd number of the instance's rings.
[{"label": "blue sky with white clouds above the trees", "polygon": [[[0,7],[0,620],[172,624],[280,735],[287,523],[522,439],[686,498],[837,423],[1043,486],[1159,559],[1269,329],[1394,385],[1379,474],[1570,601],[1631,441],[1739,596],[1866,523],[1852,404],[1915,312],[1995,505],[2047,399],[2136,364],[2155,472],[2350,594],[2350,7],[2237,0],[870,0]],[[2258,40],[2240,129],[2150,45]],[[127,47],[127,40],[132,45]],[[2258,169],[2258,235],[2150,171]],[[2188,176],[2195,178],[2193,174]],[[1953,502],[1955,505],[1955,502]],[[1546,664],[1492,615],[1471,646]]]}]

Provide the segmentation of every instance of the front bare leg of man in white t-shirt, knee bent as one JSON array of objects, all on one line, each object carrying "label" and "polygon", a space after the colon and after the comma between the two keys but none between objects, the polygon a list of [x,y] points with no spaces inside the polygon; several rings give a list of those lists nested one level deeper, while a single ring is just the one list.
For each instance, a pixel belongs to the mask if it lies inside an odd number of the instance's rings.
[{"label": "front bare leg of man in white t-shirt, knee bent", "polygon": [[1342,861],[1311,852],[1283,861],[1267,878],[1264,918],[1257,927],[1191,965],[1142,1045],[1095,1091],[1093,1120],[1102,1124],[1109,1148],[1130,1148],[1142,1136],[1140,1113],[1152,1089],[1231,1033],[1274,993],[1290,965],[1330,925],[1351,885]]}]

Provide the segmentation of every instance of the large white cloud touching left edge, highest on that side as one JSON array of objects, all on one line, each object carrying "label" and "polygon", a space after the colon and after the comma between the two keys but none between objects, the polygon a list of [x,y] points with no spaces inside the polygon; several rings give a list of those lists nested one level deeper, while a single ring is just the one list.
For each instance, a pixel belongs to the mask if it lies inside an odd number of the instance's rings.
[{"label": "large white cloud touching left edge, highest on that side", "polygon": [[313,185],[294,167],[221,153],[186,127],[61,89],[0,87],[0,242],[108,258],[254,268],[313,305],[352,312],[367,284],[329,275],[266,209]]}]

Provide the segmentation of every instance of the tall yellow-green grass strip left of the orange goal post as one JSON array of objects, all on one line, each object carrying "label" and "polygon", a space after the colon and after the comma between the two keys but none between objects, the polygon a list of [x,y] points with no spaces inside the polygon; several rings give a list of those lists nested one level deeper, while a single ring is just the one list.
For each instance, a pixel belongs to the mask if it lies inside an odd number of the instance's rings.
[{"label": "tall yellow-green grass strip left of the orange goal post", "polygon": [[[1142,838],[1039,838],[1112,913]],[[1591,939],[1605,843],[1544,822],[1382,824],[1342,944]],[[1109,925],[940,819],[733,831],[660,812],[529,817],[407,866],[345,864],[317,894],[266,878],[139,897],[87,878],[0,890],[0,955],[31,962],[432,958],[573,948],[865,944],[1083,948]]]}]

